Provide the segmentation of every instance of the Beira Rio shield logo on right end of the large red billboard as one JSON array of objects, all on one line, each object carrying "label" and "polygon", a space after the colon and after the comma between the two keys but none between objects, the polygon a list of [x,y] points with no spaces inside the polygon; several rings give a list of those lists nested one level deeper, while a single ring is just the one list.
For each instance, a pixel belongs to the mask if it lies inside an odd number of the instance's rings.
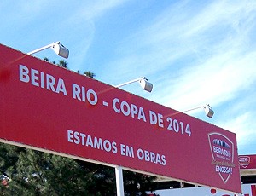
[{"label": "Beira Rio shield logo on right end of the large red billboard", "polygon": [[212,153],[212,164],[214,165],[213,170],[226,183],[235,167],[234,144],[228,137],[220,133],[210,133],[208,139]]}]

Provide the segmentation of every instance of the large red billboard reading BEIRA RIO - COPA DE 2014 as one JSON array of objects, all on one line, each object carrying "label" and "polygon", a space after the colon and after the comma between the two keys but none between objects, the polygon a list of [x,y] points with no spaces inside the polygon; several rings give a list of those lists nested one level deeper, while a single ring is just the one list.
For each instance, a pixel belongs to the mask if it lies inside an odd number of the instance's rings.
[{"label": "large red billboard reading BEIRA RIO - COPA DE 2014", "polygon": [[0,45],[0,139],[241,193],[236,135]]}]

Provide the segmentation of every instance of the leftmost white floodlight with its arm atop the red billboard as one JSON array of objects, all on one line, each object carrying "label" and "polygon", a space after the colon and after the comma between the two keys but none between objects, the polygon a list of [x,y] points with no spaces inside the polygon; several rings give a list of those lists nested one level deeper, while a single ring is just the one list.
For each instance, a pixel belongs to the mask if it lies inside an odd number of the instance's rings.
[{"label": "leftmost white floodlight with its arm atop the red billboard", "polygon": [[63,58],[66,58],[66,59],[68,58],[69,51],[60,42],[50,43],[49,45],[46,45],[46,46],[44,46],[44,47],[42,47],[40,49],[35,49],[35,50],[27,53],[27,55],[32,55],[32,54],[38,53],[38,52],[40,52],[40,51],[42,51],[44,49],[49,49],[49,48],[53,49],[55,51],[55,54],[57,54],[57,55],[59,55],[59,56],[61,56]]}]

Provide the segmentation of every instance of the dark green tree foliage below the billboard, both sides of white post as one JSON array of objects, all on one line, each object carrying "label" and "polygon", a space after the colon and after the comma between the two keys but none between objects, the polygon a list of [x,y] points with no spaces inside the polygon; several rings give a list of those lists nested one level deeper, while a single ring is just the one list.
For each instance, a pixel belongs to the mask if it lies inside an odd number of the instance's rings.
[{"label": "dark green tree foliage below the billboard, both sides of white post", "polygon": [[[115,195],[114,169],[0,143],[1,195]],[[125,195],[146,195],[154,177],[124,171]],[[139,184],[139,188],[137,185]]]}]

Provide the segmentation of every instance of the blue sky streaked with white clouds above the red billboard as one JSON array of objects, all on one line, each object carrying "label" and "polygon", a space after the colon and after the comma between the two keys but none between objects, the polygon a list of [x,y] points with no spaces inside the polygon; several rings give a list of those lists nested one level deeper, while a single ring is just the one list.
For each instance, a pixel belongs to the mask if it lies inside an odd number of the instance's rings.
[{"label": "blue sky streaked with white clouds above the red billboard", "polygon": [[123,89],[179,111],[209,103],[213,118],[188,114],[256,153],[256,1],[2,0],[0,10],[0,43],[30,52],[61,41],[73,71],[113,85],[146,76],[152,93]]}]

